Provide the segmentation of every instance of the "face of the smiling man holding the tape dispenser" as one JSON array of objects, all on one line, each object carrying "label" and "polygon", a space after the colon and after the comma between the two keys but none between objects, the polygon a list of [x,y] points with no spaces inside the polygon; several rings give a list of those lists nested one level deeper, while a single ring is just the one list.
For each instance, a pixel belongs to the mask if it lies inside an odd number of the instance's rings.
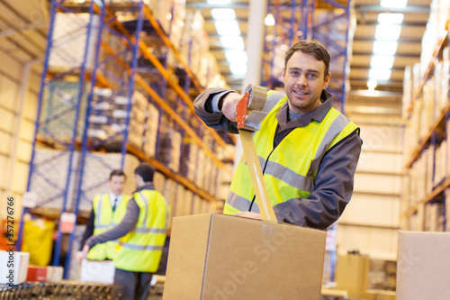
[{"label": "face of the smiling man holding the tape dispenser", "polygon": [[331,74],[325,73],[325,63],[311,54],[296,51],[283,68],[284,91],[289,111],[307,114],[320,105],[322,89],[329,86]]}]

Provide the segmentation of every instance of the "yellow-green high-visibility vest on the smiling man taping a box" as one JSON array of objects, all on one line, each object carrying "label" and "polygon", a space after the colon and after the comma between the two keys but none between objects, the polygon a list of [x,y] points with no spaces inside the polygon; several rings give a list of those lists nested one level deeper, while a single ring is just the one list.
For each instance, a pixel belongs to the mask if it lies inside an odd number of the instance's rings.
[{"label": "yellow-green high-visibility vest on the smiling man taping a box", "polygon": [[[269,91],[267,96],[271,95],[281,94]],[[322,122],[311,121],[307,126],[295,128],[274,149],[276,114],[286,100],[287,96],[284,96],[278,101],[253,137],[273,206],[292,198],[308,197],[314,190],[320,161],[327,150],[358,128],[344,114],[331,108]],[[229,186],[223,213],[246,212],[254,195],[246,160],[242,156]],[[252,212],[259,212],[257,200]]]}]

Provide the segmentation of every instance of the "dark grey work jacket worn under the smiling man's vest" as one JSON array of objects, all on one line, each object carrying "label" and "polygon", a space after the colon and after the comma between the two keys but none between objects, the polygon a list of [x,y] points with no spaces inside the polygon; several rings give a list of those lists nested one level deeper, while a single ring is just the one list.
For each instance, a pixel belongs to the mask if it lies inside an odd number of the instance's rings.
[{"label": "dark grey work jacket worn under the smiling man's vest", "polygon": [[[232,92],[223,88],[207,89],[193,103],[195,114],[212,128],[237,133],[236,123],[221,114],[218,106],[220,97]],[[282,97],[282,93],[269,96],[264,110],[270,110]],[[320,123],[325,118],[333,106],[332,95],[324,90],[320,100],[322,104],[318,108],[293,121],[289,121],[287,101],[282,105],[276,114],[278,124],[274,147],[293,129],[308,126],[312,121]],[[317,229],[326,229],[335,223],[353,194],[354,175],[362,144],[358,129],[328,150],[320,162],[311,195],[307,198],[286,199],[284,203],[275,205],[277,220]]]}]

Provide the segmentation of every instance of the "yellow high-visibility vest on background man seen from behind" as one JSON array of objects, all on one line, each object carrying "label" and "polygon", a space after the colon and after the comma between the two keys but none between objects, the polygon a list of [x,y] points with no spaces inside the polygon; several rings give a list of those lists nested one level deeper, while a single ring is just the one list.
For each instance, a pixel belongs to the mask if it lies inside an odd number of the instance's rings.
[{"label": "yellow high-visibility vest on background man seen from behind", "polygon": [[156,272],[166,241],[169,207],[156,190],[133,194],[139,205],[136,227],[119,239],[115,268],[133,272]]}]

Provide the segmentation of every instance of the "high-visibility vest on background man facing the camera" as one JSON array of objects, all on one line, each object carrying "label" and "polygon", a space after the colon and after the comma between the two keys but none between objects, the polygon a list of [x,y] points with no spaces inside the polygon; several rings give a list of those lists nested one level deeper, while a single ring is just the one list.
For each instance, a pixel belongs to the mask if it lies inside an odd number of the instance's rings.
[{"label": "high-visibility vest on background man facing the camera", "polygon": [[[93,200],[94,207],[94,235],[106,232],[118,223],[121,223],[123,216],[127,212],[129,195],[124,195],[121,203],[112,212],[112,205],[109,194],[95,195]],[[117,241],[107,241],[102,244],[96,244],[87,253],[87,259],[104,260],[113,259]]]}]

